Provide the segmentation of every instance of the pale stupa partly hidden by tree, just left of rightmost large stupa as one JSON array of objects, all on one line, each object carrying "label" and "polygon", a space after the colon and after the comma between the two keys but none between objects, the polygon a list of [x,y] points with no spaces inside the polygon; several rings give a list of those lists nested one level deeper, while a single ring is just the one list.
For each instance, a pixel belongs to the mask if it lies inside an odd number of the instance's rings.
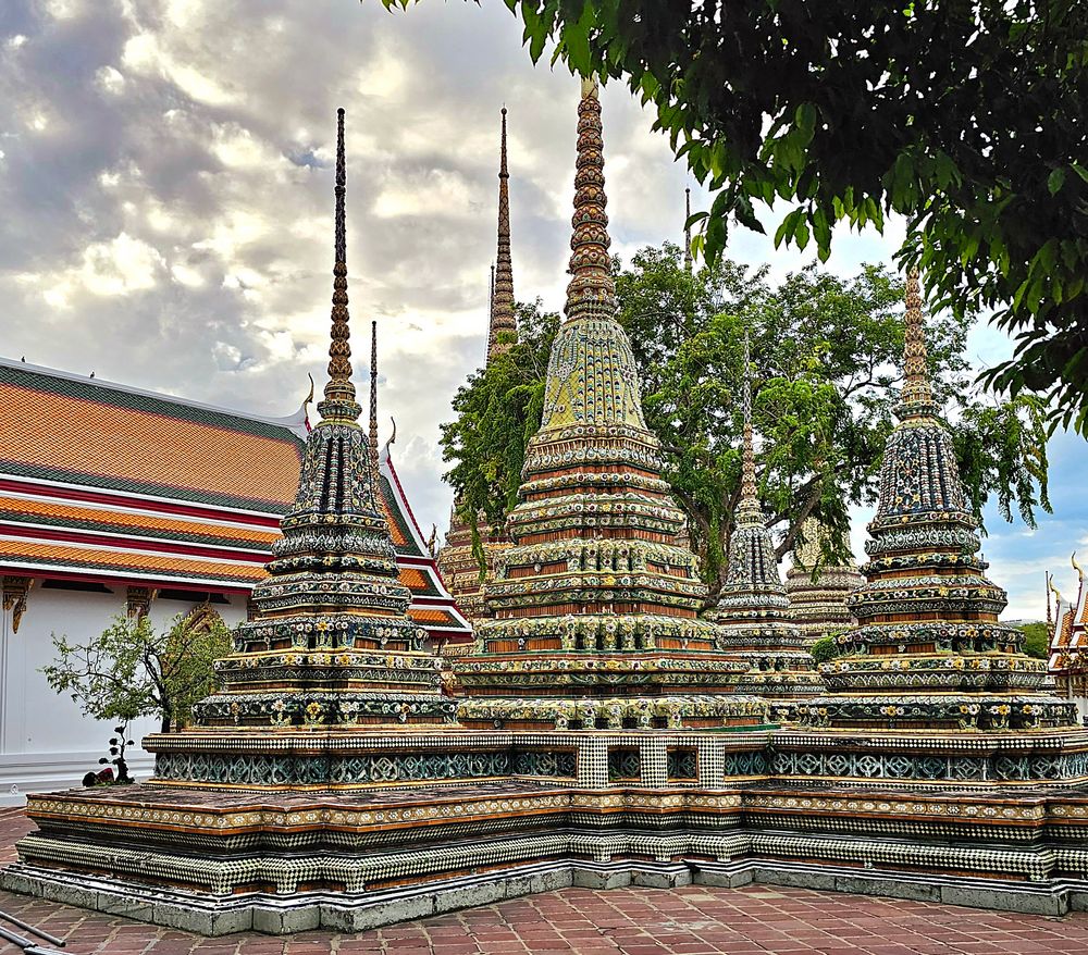
[{"label": "pale stupa partly hidden by tree, just left of rightmost large stupa", "polygon": [[786,572],[790,619],[809,644],[856,623],[846,598],[865,582],[853,565],[824,563],[823,544],[829,533],[816,518],[806,519],[793,548],[793,566]]}]

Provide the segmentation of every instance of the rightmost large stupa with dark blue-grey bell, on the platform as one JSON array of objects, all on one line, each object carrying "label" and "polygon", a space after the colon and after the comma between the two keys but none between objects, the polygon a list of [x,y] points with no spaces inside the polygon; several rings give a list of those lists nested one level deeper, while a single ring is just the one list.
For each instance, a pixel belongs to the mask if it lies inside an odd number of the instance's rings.
[{"label": "rightmost large stupa with dark blue-grey bell, on the platform", "polygon": [[1023,653],[1021,630],[998,621],[1005,593],[984,574],[952,435],[937,417],[914,271],[903,370],[861,569],[866,583],[848,600],[858,625],[836,638],[844,656],[821,667],[840,695],[813,700],[802,719],[929,731],[1072,725],[1075,707],[1039,692],[1046,662]]}]

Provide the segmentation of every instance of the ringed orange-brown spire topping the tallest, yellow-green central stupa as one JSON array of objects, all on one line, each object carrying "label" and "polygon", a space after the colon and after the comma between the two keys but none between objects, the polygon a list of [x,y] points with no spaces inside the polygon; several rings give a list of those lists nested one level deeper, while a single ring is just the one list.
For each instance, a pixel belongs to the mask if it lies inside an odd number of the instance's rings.
[{"label": "ringed orange-brown spire topping the tallest, yellow-green central stupa", "polygon": [[570,237],[570,283],[567,285],[567,320],[585,315],[616,314],[616,283],[611,276],[608,215],[605,207],[604,139],[597,82],[582,79],[578,104],[578,158],[574,174],[573,234]]}]

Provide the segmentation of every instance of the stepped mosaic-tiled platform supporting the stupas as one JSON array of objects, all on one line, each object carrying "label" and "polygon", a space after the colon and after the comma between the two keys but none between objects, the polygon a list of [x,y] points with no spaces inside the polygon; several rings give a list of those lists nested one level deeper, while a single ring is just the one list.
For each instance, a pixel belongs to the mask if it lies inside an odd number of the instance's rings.
[{"label": "stepped mosaic-tiled platform supporting the stupas", "polygon": [[[386,741],[387,766],[418,769],[412,735]],[[359,931],[565,886],[761,882],[1088,909],[1079,732],[462,735],[486,778],[32,796],[38,831],[2,884],[209,935]],[[819,779],[841,759],[838,783]],[[918,778],[919,760],[944,778]]]}]

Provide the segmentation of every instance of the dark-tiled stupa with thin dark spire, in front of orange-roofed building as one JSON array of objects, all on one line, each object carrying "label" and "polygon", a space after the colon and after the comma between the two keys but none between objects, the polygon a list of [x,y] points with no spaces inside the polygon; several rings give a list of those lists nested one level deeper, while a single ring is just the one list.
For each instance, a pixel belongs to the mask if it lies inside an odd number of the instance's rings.
[{"label": "dark-tiled stupa with thin dark spire, in front of orange-roofed building", "polygon": [[[202,727],[345,727],[441,722],[438,661],[407,616],[410,591],[378,495],[376,357],[371,434],[351,381],[344,209],[344,111],[336,145],[336,227],[329,383],[310,432],[295,504],[281,521],[269,576],[236,653],[218,665],[223,689],[197,705]],[[372,333],[376,352],[376,331]],[[160,761],[163,757],[160,756]],[[161,768],[161,767],[160,767]]]}]

